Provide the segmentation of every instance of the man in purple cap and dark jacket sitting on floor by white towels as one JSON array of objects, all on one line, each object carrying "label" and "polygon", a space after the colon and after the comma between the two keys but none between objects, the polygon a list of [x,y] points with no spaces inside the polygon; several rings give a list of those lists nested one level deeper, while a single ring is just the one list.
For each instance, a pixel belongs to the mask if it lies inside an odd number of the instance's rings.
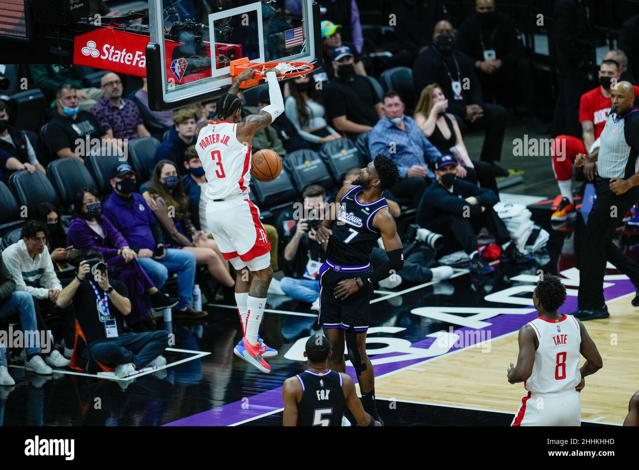
[{"label": "man in purple cap and dark jacket sitting on floor by white towels", "polygon": [[417,208],[416,221],[420,226],[443,235],[445,244],[441,255],[461,247],[470,258],[471,272],[494,272],[495,269],[477,251],[477,233],[486,227],[502,248],[503,258],[516,263],[532,260],[532,257],[520,253],[511,242],[504,222],[493,210],[498,202],[493,191],[458,180],[455,176],[456,162],[450,155],[440,157],[435,168],[437,182],[424,192]]}]

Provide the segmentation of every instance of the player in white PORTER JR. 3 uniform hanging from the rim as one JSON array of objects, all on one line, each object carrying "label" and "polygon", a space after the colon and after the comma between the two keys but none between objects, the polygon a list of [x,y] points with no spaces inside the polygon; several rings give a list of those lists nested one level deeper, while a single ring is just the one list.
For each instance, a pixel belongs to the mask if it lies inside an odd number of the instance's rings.
[{"label": "player in white PORTER JR. 3 uniform hanging from the rim", "polygon": [[271,368],[264,357],[275,356],[277,351],[261,341],[258,331],[273,269],[271,244],[259,221],[259,209],[249,201],[250,145],[258,130],[284,112],[277,74],[275,68],[266,72],[271,104],[242,120],[242,100],[237,93],[240,84],[254,75],[251,68],[243,70],[219,98],[216,121],[199,125],[196,143],[208,182],[206,221],[224,259],[237,272],[235,300],[243,338],[233,351],[266,373]]}]

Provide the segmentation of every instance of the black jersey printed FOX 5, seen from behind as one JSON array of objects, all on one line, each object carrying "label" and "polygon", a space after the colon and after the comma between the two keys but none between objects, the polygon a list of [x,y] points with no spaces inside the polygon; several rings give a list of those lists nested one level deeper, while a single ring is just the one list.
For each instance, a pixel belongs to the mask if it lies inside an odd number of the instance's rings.
[{"label": "black jersey printed FOX 5, seen from behind", "polygon": [[296,375],[302,384],[302,401],[298,404],[298,426],[341,426],[344,411],[342,375],[305,370]]}]

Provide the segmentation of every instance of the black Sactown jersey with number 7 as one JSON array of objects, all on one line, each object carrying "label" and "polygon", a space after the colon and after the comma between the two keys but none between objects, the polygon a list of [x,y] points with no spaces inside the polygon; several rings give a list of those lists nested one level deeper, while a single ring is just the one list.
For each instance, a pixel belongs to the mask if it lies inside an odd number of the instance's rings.
[{"label": "black Sactown jersey with number 7", "polygon": [[357,200],[364,189],[355,186],[344,194],[338,207],[337,220],[328,237],[327,258],[341,266],[362,266],[371,262],[371,251],[381,234],[373,228],[374,215],[389,207],[385,198],[369,204]]}]

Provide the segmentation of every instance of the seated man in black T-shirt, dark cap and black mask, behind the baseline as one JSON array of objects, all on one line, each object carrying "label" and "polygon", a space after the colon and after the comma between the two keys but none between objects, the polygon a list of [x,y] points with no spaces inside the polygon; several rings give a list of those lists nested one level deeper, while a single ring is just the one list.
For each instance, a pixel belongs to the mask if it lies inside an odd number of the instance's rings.
[{"label": "seated man in black T-shirt, dark cap and black mask, behind the baseline", "polygon": [[332,65],[337,77],[326,86],[328,121],[338,132],[355,138],[373,129],[383,107],[369,79],[355,74],[350,47],[335,47]]}]

